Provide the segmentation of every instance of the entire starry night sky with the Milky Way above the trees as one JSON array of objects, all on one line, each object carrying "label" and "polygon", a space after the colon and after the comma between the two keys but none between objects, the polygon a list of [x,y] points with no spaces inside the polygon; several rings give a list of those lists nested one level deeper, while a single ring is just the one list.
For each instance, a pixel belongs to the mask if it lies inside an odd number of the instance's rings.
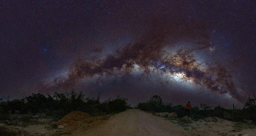
[{"label": "entire starry night sky with the Milky Way above the trees", "polygon": [[256,88],[255,1],[1,1],[0,37],[10,99],[100,91],[229,108]]}]

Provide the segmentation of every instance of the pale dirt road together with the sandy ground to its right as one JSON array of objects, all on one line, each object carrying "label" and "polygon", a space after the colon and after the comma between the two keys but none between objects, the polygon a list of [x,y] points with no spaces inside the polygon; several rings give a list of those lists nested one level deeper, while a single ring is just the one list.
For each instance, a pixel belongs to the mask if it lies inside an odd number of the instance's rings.
[{"label": "pale dirt road together with the sandy ground to its right", "polygon": [[177,120],[169,120],[139,109],[128,109],[110,117],[99,126],[73,136],[114,136],[114,135],[166,135],[166,136],[255,136],[255,129],[233,132],[235,122],[217,118],[217,122],[208,120],[192,121],[188,126],[181,126]]}]

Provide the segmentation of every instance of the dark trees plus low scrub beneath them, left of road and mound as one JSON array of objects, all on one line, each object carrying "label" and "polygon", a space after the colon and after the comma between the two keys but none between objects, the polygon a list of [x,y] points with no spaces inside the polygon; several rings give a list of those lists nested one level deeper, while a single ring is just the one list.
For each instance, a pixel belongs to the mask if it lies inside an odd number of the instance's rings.
[{"label": "dark trees plus low scrub beneath them, left of road and mound", "polygon": [[75,91],[54,93],[53,96],[32,94],[23,99],[15,100],[3,97],[0,99],[0,123],[5,124],[5,126],[0,126],[0,135],[14,135],[14,133],[16,133],[15,135],[26,135],[25,131],[15,130],[14,127],[31,125],[44,125],[47,129],[57,129],[57,121],[71,111],[82,111],[92,118],[105,120],[110,115],[125,111],[128,108],[130,106],[127,99],[120,97],[100,102],[100,93],[97,97],[86,97],[82,92],[76,93]]}]

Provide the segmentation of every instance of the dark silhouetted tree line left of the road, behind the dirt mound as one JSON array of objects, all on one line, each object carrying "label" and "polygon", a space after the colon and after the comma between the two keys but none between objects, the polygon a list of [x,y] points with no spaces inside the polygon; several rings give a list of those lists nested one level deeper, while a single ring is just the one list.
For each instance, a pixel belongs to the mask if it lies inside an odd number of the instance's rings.
[{"label": "dark silhouetted tree line left of the road, behind the dirt mound", "polygon": [[24,99],[5,100],[0,99],[0,114],[36,114],[45,113],[48,116],[62,118],[73,110],[87,112],[89,114],[106,114],[121,112],[130,108],[127,99],[117,97],[114,100],[100,102],[100,93],[97,98],[85,97],[80,92],[76,93],[54,93],[53,96],[42,94],[32,94]]}]

